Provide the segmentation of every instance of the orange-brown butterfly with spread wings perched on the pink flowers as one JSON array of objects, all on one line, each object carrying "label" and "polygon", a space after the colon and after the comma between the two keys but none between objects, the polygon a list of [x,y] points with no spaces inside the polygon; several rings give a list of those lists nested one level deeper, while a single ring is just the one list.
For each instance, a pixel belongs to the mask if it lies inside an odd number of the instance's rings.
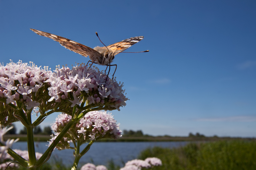
[{"label": "orange-brown butterfly with spread wings perched on the pink flowers", "polygon": [[[48,37],[53,39],[54,41],[59,42],[65,48],[73,52],[76,52],[84,57],[89,56],[89,58],[92,60],[92,63],[97,63],[99,65],[107,65],[107,66],[108,65],[110,66],[110,63],[115,58],[116,54],[123,52],[124,50],[126,50],[127,48],[141,41],[144,38],[143,36],[132,37],[120,42],[116,42],[115,44],[112,44],[109,46],[104,46],[104,47],[96,46],[95,48],[92,49],[88,46],[85,46],[83,44],[80,44],[78,42],[72,41],[64,37],[60,37],[58,35],[46,33],[36,29],[31,29],[31,30],[37,33],[38,35],[42,35],[44,37]],[[96,35],[98,36],[97,33]],[[148,52],[148,50],[144,52]]]}]

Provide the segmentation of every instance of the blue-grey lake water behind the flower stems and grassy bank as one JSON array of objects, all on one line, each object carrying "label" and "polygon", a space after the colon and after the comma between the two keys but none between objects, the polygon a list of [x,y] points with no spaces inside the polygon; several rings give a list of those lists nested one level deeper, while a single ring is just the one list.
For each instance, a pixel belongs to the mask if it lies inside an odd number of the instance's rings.
[{"label": "blue-grey lake water behind the flower stems and grassy bank", "polygon": [[[94,163],[95,165],[107,165],[108,161],[113,159],[117,165],[123,166],[121,162],[136,159],[139,153],[154,146],[161,146],[165,148],[173,148],[184,146],[189,142],[96,142],[93,143],[90,150],[80,159],[79,166],[86,163]],[[48,142],[35,143],[36,152],[44,153],[48,148]],[[80,151],[85,148],[85,144],[80,146]],[[12,149],[28,150],[27,142],[16,142]],[[54,158],[62,160],[66,165],[73,165],[75,157],[73,150],[57,150],[55,149],[48,162],[54,162]]]}]

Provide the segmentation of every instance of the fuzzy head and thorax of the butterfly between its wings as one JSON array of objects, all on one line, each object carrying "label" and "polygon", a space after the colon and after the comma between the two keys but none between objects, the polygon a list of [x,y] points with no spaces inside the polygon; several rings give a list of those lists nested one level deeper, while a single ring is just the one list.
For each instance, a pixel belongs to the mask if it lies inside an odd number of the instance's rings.
[{"label": "fuzzy head and thorax of the butterfly between its wings", "polygon": [[94,50],[98,51],[102,55],[102,57],[96,58],[94,61],[100,65],[109,65],[109,63],[111,63],[115,57],[113,51],[110,48],[108,49],[106,47],[96,46],[94,47]]}]

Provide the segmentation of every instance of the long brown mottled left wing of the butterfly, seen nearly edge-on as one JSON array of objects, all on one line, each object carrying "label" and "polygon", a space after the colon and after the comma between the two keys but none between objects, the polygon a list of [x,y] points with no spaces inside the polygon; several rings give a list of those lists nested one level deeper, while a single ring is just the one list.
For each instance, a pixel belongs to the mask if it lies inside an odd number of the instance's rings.
[{"label": "long brown mottled left wing of the butterfly, seen nearly edge-on", "polygon": [[85,46],[83,44],[80,44],[78,42],[72,41],[70,39],[67,39],[67,38],[64,38],[64,37],[61,37],[58,35],[39,31],[36,29],[31,29],[31,30],[34,31],[35,33],[37,33],[38,35],[42,35],[44,37],[48,37],[50,39],[53,39],[54,41],[59,42],[65,48],[67,48],[73,52],[76,52],[84,57],[89,56],[92,61],[96,61],[97,58],[99,60],[100,60],[100,58],[102,58],[101,54],[98,51],[96,51],[88,46]]}]

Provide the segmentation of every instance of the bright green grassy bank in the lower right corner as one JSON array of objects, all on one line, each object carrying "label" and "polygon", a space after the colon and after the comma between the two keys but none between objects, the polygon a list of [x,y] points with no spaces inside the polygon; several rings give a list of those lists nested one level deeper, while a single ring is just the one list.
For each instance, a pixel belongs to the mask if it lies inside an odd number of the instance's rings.
[{"label": "bright green grassy bank in the lower right corner", "polygon": [[157,157],[161,167],[155,170],[255,170],[255,141],[217,141],[190,143],[180,148],[148,148],[139,159]]}]

